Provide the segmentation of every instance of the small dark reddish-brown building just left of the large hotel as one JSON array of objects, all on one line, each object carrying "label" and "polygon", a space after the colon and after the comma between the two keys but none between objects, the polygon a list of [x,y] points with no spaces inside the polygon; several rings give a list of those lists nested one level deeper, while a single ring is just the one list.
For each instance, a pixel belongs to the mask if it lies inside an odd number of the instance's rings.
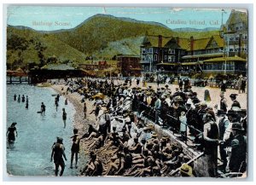
[{"label": "small dark reddish-brown building just left of the large hotel", "polygon": [[140,76],[141,64],[139,55],[118,55],[118,68],[123,77]]}]

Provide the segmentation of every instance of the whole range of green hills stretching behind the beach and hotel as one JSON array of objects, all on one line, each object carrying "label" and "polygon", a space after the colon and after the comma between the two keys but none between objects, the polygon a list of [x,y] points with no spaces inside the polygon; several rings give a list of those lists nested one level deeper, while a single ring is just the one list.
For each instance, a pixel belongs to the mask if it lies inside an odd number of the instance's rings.
[{"label": "whole range of green hills stretching behind the beach and hotel", "polygon": [[[38,32],[25,26],[7,28],[7,68],[44,66],[47,63],[87,62],[85,58],[112,59],[114,55],[139,55],[143,36],[210,38],[209,32],[172,32],[156,22],[96,14],[68,30]],[[90,62],[90,61],[88,61]]]}]

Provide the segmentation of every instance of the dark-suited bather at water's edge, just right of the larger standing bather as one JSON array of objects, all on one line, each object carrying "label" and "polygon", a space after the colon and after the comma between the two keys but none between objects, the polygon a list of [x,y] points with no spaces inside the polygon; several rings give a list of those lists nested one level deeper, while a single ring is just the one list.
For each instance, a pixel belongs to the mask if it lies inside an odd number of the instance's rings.
[{"label": "dark-suited bather at water's edge, just right of the larger standing bather", "polygon": [[74,129],[73,130],[73,136],[71,137],[73,140],[73,145],[71,147],[71,163],[70,168],[73,169],[73,156],[75,155],[75,161],[76,165],[75,167],[78,168],[78,160],[79,160],[79,144],[80,144],[80,137],[78,135],[79,130]]}]

